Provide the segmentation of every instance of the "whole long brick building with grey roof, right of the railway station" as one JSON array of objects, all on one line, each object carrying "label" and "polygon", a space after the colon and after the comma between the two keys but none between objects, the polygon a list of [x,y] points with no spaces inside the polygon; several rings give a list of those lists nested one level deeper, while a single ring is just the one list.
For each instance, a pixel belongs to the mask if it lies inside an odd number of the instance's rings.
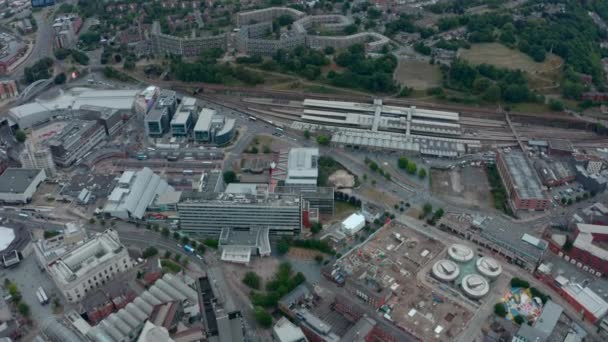
[{"label": "whole long brick building with grey roof, right of the railway station", "polygon": [[546,210],[549,208],[550,201],[543,193],[540,180],[522,152],[498,152],[496,167],[514,209]]}]

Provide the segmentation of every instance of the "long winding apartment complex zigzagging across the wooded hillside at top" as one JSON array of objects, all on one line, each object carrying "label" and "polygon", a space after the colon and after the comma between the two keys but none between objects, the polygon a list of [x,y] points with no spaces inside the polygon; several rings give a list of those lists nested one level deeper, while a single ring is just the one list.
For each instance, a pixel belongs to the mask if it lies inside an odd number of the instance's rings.
[{"label": "long winding apartment complex zigzagging across the wooded hillside at top", "polygon": [[[291,28],[282,32],[278,39],[267,37],[272,31],[272,21],[280,16],[289,16],[295,21]],[[153,23],[150,33],[152,49],[157,54],[172,54],[184,57],[195,57],[203,50],[211,48],[235,49],[249,55],[270,56],[278,50],[290,50],[298,46],[321,49],[328,46],[347,48],[354,44],[364,44],[368,51],[378,51],[390,40],[376,32],[360,32],[347,36],[339,33],[352,23],[342,15],[307,16],[293,8],[270,7],[238,13],[237,28],[231,34],[222,33],[215,36],[182,38],[161,33],[160,24]],[[308,31],[313,27],[322,27],[332,36],[315,35]]]}]

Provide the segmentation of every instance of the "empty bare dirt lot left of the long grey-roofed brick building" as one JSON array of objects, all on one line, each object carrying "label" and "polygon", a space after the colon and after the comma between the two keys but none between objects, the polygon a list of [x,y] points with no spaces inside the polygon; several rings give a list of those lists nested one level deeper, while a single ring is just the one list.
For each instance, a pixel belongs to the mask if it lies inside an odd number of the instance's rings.
[{"label": "empty bare dirt lot left of the long grey-roofed brick building", "polygon": [[433,194],[448,202],[475,209],[493,209],[490,184],[481,167],[431,170],[431,179]]}]

